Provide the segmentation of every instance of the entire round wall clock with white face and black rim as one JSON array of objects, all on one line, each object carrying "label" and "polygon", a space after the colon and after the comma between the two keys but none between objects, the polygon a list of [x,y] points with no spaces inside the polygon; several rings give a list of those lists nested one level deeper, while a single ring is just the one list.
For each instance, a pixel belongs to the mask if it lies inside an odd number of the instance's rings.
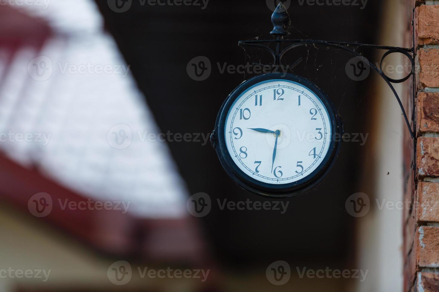
[{"label": "entire round wall clock with white face and black rim", "polygon": [[335,162],[342,123],[316,85],[293,74],[254,77],[221,108],[213,135],[227,174],[240,186],[269,197],[304,193]]}]

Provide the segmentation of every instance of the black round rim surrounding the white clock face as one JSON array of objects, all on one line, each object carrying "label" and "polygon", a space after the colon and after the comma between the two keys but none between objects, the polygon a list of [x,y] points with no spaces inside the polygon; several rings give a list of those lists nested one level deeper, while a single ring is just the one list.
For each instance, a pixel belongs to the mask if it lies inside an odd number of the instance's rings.
[{"label": "black round rim surrounding the white clock face", "polygon": [[[226,138],[224,137],[224,127],[230,107],[233,106],[234,101],[249,87],[262,81],[269,81],[270,79],[285,79],[288,81],[294,81],[308,88],[320,98],[321,102],[326,107],[331,120],[332,135],[327,155],[323,158],[323,161],[320,163],[317,169],[304,178],[293,183],[274,185],[253,179],[251,176],[248,176],[245,172],[239,169],[227,151]],[[269,73],[258,75],[248,79],[247,81],[244,81],[230,93],[219,109],[215,123],[214,135],[212,136],[212,143],[214,144],[216,154],[218,155],[223,169],[227,172],[227,175],[230,176],[230,178],[233,179],[234,182],[239,186],[252,193],[265,197],[293,197],[311,190],[321,183],[328,175],[340,150],[341,139],[334,139],[336,133],[340,135],[339,137],[341,137],[343,134],[342,120],[332,102],[327,98],[327,95],[317,87],[317,85],[295,74]]]}]

